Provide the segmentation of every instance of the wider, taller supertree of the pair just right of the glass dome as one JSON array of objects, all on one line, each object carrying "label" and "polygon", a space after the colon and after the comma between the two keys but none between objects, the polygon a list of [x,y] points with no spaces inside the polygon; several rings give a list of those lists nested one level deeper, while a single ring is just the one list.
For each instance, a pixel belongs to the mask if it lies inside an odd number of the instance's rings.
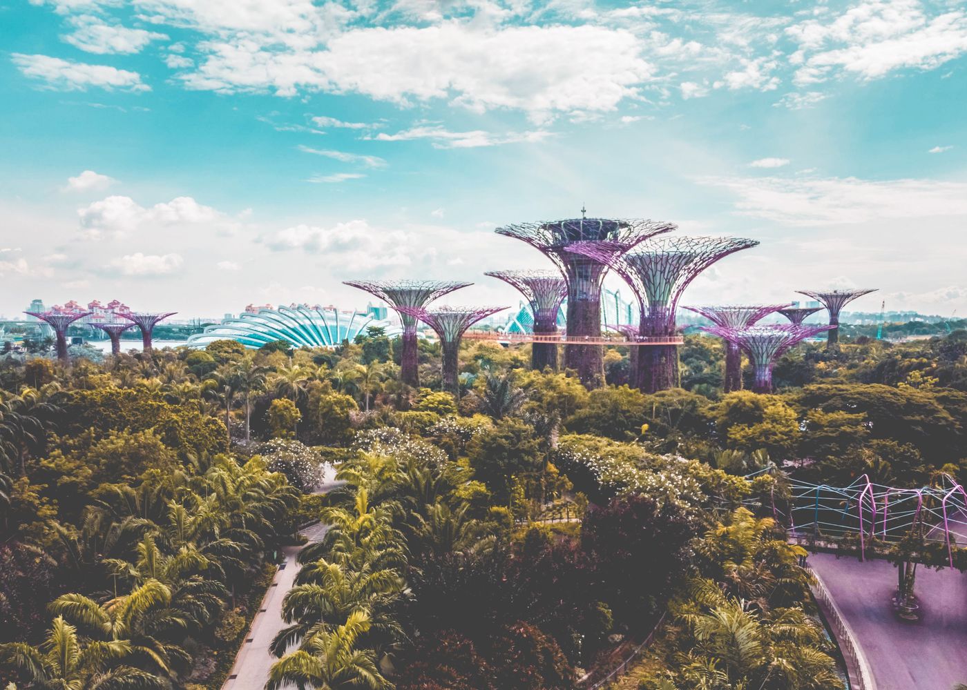
[{"label": "wider, taller supertree of the pair just right of the glass dome", "polygon": [[[455,280],[345,280],[343,283],[366,290],[383,302],[388,302],[399,314],[403,325],[399,374],[404,384],[413,387],[420,386],[420,350],[417,344],[417,319],[410,312],[473,284]],[[405,311],[407,309],[410,311]]]}]

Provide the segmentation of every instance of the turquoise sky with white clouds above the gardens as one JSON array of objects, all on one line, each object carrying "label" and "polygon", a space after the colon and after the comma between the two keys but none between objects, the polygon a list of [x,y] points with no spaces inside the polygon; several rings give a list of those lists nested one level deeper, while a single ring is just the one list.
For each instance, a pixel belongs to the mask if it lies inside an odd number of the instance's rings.
[{"label": "turquoise sky with white clouds above the gardens", "polygon": [[0,0],[0,313],[516,304],[584,207],[761,242],[684,303],[964,315],[965,103],[964,2]]}]

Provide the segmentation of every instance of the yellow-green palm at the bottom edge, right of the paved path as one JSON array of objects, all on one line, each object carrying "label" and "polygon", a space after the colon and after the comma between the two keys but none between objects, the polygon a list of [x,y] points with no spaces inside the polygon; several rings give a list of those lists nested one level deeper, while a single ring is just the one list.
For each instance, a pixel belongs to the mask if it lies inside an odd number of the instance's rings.
[{"label": "yellow-green palm at the bottom edge, right of the paved path", "polygon": [[289,683],[313,690],[390,690],[393,684],[380,675],[373,652],[356,648],[368,630],[369,618],[362,612],[332,630],[316,630],[272,665],[266,690]]}]

